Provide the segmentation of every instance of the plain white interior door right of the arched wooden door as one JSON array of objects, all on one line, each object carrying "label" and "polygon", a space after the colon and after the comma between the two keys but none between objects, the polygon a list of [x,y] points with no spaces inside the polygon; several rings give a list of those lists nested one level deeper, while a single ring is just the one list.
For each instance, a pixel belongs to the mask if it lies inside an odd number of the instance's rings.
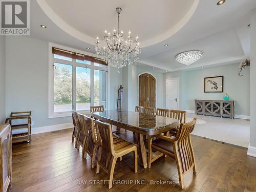
[{"label": "plain white interior door right of the arched wooden door", "polygon": [[179,78],[166,79],[166,108],[179,109]]}]

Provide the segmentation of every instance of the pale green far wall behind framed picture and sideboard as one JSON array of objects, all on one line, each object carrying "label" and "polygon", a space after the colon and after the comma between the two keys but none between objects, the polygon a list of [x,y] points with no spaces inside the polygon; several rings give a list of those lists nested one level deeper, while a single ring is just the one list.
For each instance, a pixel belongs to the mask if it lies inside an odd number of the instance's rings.
[{"label": "pale green far wall behind framed picture and sideboard", "polygon": [[[242,71],[243,77],[238,76],[238,65],[225,65],[212,68],[203,68],[192,71],[178,71],[165,74],[166,78],[180,78],[180,108],[183,110],[195,110],[195,99],[223,99],[223,94],[228,93],[230,100],[236,100],[235,114],[247,115],[250,112],[250,70]],[[204,93],[204,77],[224,76],[223,93]]]}]

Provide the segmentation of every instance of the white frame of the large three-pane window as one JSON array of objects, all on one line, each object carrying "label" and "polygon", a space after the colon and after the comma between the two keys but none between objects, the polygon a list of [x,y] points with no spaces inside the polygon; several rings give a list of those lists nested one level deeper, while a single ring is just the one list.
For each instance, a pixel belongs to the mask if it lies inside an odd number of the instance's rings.
[{"label": "white frame of the large three-pane window", "polygon": [[[106,109],[108,108],[109,105],[109,66],[107,67],[98,67],[98,66],[94,66],[93,62],[91,62],[91,65],[88,64],[83,64],[83,63],[78,63],[75,61],[75,59],[73,59],[73,61],[67,61],[67,60],[63,60],[63,59],[57,59],[53,57],[52,54],[52,47],[57,47],[60,49],[64,49],[64,50],[69,50],[72,52],[77,52],[77,53],[81,53],[84,55],[89,55],[89,56],[94,56],[97,57],[97,55],[92,54],[92,53],[88,53],[85,51],[81,51],[81,50],[77,50],[77,49],[73,49],[73,48],[69,48],[66,46],[61,46],[61,45],[57,45],[57,44],[53,44],[52,42],[49,42],[48,44],[48,117],[49,118],[57,118],[57,117],[68,117],[71,116],[71,111],[69,112],[55,112],[54,113],[54,62],[59,62],[59,63],[63,63],[63,64],[67,64],[67,65],[71,65],[72,64],[72,109],[75,109],[75,102],[76,101],[76,67],[87,67],[88,69],[91,69],[91,106],[93,106],[93,101],[94,101],[94,70],[101,70],[101,71],[105,71],[106,74]],[[80,113],[83,114],[90,114],[90,110],[83,110],[83,111],[79,111]]]}]

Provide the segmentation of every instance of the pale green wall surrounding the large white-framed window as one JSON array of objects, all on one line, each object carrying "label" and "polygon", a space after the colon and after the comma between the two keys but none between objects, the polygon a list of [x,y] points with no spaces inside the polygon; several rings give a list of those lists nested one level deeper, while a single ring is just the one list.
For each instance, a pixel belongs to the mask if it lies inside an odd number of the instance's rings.
[{"label": "pale green wall surrounding the large white-framed window", "polygon": [[[116,108],[122,74],[110,68],[110,109]],[[32,111],[34,127],[70,123],[70,117],[48,118],[48,42],[24,36],[6,37],[6,114]],[[33,127],[32,127],[33,129]]]}]

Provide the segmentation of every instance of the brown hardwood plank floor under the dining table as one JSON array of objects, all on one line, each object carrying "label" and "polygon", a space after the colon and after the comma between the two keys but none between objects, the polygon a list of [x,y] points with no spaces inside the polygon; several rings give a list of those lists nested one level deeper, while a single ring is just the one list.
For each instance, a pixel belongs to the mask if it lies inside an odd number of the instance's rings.
[{"label": "brown hardwood plank floor under the dining table", "polygon": [[[132,132],[121,130],[121,135],[134,139]],[[81,151],[71,142],[72,130],[62,130],[32,136],[30,143],[13,145],[13,177],[10,191],[180,191],[179,185],[151,184],[151,182],[178,182],[176,163],[162,157],[152,163],[150,170],[138,166],[133,170],[133,156],[117,161],[116,182],[131,184],[92,184],[93,180],[108,179],[103,170],[95,174],[91,158],[82,159]],[[197,174],[184,177],[182,191],[256,191],[256,158],[247,156],[247,150],[221,144],[200,137],[192,137]],[[78,180],[78,181],[77,181]],[[84,184],[84,180],[87,183]],[[135,184],[139,180],[143,184]],[[80,182],[80,185],[77,184]],[[96,181],[95,181],[96,182]],[[106,182],[107,183],[107,182]]]}]

